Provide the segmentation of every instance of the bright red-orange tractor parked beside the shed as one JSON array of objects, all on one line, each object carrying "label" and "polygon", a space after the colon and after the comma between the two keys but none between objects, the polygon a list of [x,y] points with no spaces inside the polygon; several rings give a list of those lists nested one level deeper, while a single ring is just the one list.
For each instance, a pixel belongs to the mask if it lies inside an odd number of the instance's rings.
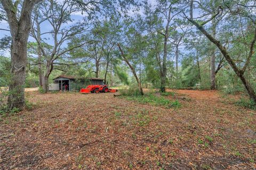
[{"label": "bright red-orange tractor parked beside the shed", "polygon": [[117,92],[115,89],[111,89],[108,85],[88,85],[86,88],[81,88],[80,93],[107,93]]}]

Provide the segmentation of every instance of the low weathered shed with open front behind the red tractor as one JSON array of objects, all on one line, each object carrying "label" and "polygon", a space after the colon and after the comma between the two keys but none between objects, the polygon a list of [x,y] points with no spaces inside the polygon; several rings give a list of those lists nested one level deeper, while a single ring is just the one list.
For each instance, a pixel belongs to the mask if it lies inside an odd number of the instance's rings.
[{"label": "low weathered shed with open front behind the red tractor", "polygon": [[[53,79],[54,84],[59,84],[59,89],[61,91],[76,91],[80,90],[82,87],[86,87],[89,84],[93,85],[103,85],[102,78],[81,78],[75,76],[65,76],[61,75]],[[58,86],[58,85],[57,85]],[[50,89],[50,88],[49,88]]]}]

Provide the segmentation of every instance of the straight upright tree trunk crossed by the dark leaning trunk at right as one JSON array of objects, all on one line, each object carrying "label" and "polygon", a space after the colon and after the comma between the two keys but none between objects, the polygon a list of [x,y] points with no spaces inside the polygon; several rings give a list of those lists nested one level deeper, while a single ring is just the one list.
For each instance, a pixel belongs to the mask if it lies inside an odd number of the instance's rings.
[{"label": "straight upright tree trunk crossed by the dark leaning trunk at right", "polygon": [[[212,36],[216,37],[216,21],[215,18],[212,20]],[[215,90],[215,45],[212,43],[211,60],[210,60],[210,81],[211,90]]]}]

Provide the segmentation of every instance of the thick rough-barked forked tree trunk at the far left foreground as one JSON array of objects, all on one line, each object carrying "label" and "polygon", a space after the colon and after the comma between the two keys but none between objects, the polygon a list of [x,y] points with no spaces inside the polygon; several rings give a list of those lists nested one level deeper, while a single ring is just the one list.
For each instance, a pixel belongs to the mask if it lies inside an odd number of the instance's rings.
[{"label": "thick rough-barked forked tree trunk at the far left foreground", "polygon": [[[11,81],[9,85],[9,109],[23,109],[25,106],[25,79],[27,64],[27,42],[31,27],[31,12],[35,1],[25,0],[22,3],[19,18],[17,18],[18,4],[12,1],[0,0],[10,26],[11,44]],[[37,1],[39,2],[39,1]],[[19,6],[20,7],[20,6]]]}]

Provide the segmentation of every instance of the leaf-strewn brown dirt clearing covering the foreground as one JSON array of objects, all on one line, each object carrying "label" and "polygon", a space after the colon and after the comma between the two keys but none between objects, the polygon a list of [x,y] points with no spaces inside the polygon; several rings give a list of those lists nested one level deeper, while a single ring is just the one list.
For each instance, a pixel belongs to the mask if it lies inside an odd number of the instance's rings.
[{"label": "leaf-strewn brown dirt clearing covering the foreground", "polygon": [[255,169],[256,112],[217,91],[175,91],[181,108],[113,93],[27,92],[0,120],[0,169]]}]

